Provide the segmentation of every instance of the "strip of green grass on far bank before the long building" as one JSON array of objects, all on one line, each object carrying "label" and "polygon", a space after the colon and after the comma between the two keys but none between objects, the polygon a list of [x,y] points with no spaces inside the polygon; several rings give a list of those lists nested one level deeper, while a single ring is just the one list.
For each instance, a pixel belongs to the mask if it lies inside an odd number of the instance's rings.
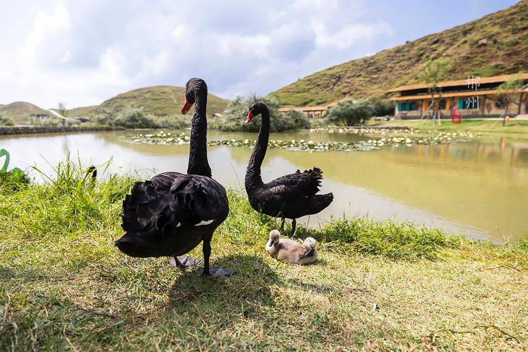
[{"label": "strip of green grass on far bank before the long building", "polygon": [[[367,126],[408,126],[420,130],[438,130],[445,132],[471,131],[480,133],[511,133],[528,134],[528,120],[512,119],[502,126],[502,121],[495,123],[496,119],[462,119],[460,125],[455,125],[450,118],[442,119],[441,125],[433,125],[431,121],[425,120],[392,120],[392,121],[370,121]],[[495,125],[495,126],[494,126]]]}]

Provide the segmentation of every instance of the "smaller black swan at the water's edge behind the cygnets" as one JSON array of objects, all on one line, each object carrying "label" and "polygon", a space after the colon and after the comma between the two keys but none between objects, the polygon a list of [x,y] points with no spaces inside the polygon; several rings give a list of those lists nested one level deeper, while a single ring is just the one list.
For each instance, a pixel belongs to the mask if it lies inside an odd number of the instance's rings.
[{"label": "smaller black swan at the water's edge behind the cygnets", "polygon": [[269,110],[266,104],[254,103],[249,108],[247,125],[251,119],[262,115],[259,137],[253,148],[246,171],[246,192],[251,207],[263,214],[281,217],[284,230],[285,218],[291,219],[291,235],[295,233],[296,218],[317,214],[334,199],[332,193],[317,194],[323,172],[314,167],[311,170],[279,177],[263,183],[260,175],[262,160],[266,156],[269,138]]}]

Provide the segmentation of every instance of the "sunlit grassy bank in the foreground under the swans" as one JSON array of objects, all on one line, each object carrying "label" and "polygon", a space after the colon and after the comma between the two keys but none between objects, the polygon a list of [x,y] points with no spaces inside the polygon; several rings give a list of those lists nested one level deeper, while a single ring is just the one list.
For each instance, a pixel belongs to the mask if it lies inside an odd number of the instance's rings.
[{"label": "sunlit grassy bank in the foreground under the swans", "polygon": [[318,240],[315,265],[285,265],[263,249],[278,222],[231,191],[212,263],[238,273],[204,280],[112,245],[133,178],[93,185],[63,167],[45,185],[0,189],[0,350],[527,346],[527,242],[336,220],[296,234]]}]

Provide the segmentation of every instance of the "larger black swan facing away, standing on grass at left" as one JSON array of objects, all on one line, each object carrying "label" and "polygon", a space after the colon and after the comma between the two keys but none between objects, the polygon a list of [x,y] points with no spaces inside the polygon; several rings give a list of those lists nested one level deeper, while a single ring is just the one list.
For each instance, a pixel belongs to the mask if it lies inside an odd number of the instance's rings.
[{"label": "larger black swan facing away, standing on grass at left", "polygon": [[[210,268],[213,232],[228,216],[225,188],[211,178],[207,159],[207,85],[193,78],[185,85],[185,114],[195,104],[187,174],[166,172],[149,181],[136,182],[123,201],[125,230],[116,246],[127,255],[146,258],[172,256],[178,268],[197,260],[178,257],[203,241],[202,276],[230,275],[234,271]],[[172,262],[172,261],[171,261]]]}]

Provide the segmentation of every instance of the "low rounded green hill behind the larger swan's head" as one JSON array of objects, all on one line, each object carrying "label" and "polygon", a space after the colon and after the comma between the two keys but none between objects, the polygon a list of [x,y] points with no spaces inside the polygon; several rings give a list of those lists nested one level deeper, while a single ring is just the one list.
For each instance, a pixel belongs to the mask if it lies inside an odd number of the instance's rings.
[{"label": "low rounded green hill behind the larger swan's head", "polygon": [[[116,111],[126,106],[141,107],[146,113],[155,116],[181,115],[180,109],[183,105],[184,88],[169,85],[158,85],[155,87],[139,88],[108,99],[97,109],[91,110],[88,115],[94,115],[98,111]],[[227,108],[229,100],[208,95],[207,112],[222,112]]]}]

